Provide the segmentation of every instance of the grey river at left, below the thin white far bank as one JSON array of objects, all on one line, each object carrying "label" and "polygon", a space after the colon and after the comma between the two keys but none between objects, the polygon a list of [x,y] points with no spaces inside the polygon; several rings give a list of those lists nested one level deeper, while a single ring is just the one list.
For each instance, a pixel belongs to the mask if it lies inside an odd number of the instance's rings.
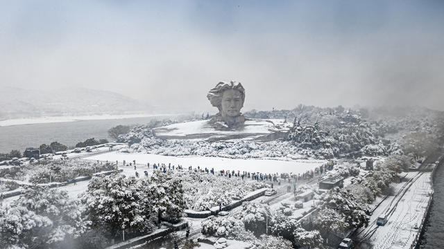
[{"label": "grey river at left, below the thin white far bank", "polygon": [[42,144],[49,145],[53,141],[63,145],[74,146],[77,142],[87,138],[106,138],[108,129],[119,124],[147,124],[150,120],[164,120],[168,116],[124,118],[112,120],[82,120],[75,122],[56,122],[44,124],[20,124],[8,127],[0,127],[0,153],[9,152],[12,149],[24,151],[26,147],[38,147]]}]

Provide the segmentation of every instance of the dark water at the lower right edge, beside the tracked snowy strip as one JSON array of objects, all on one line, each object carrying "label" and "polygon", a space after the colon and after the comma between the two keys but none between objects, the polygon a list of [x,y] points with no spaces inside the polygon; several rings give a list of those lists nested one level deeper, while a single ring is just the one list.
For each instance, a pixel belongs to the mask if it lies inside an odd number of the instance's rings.
[{"label": "dark water at the lower right edge, beside the tracked snowy strip", "polygon": [[425,223],[425,232],[420,239],[421,249],[444,248],[444,167],[438,165],[434,178],[433,203]]}]

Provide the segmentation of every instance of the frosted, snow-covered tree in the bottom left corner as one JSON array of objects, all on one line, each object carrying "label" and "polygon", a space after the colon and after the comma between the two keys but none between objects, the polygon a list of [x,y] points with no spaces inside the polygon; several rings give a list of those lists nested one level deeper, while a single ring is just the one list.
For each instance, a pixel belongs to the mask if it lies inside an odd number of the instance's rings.
[{"label": "frosted, snow-covered tree in the bottom left corner", "polygon": [[80,236],[83,221],[78,201],[67,192],[32,187],[0,208],[0,247],[60,248]]}]

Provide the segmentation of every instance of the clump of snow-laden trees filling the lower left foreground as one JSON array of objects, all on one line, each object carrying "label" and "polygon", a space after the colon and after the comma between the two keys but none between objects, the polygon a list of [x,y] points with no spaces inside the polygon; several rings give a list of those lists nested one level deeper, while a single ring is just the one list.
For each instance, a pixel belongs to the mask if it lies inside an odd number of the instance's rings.
[{"label": "clump of snow-laden trees filling the lower left foreground", "polygon": [[74,200],[34,186],[0,207],[0,248],[104,248],[123,230],[128,238],[178,221],[184,207],[182,185],[168,173],[94,177]]}]

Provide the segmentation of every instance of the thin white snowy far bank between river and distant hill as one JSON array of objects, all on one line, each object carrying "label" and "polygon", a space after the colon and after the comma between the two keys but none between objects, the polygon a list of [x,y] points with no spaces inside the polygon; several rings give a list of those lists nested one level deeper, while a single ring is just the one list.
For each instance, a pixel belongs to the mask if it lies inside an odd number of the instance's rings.
[{"label": "thin white snowy far bank between river and distant hill", "polygon": [[17,118],[10,120],[1,120],[0,127],[19,125],[19,124],[43,124],[53,122],[74,122],[80,120],[108,120],[123,118],[146,118],[157,116],[177,116],[180,114],[130,114],[130,115],[95,115],[95,116],[49,116],[40,118]]}]

